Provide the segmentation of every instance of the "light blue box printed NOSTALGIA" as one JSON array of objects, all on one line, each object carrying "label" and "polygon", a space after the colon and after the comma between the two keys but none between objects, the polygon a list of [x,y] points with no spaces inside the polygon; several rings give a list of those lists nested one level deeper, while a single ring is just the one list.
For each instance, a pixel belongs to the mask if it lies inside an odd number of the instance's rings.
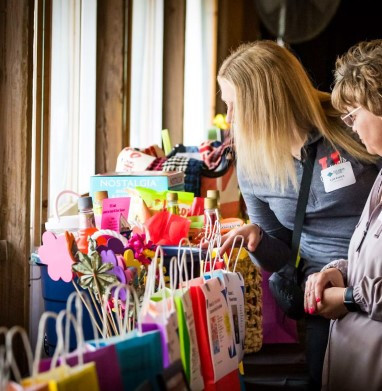
[{"label": "light blue box printed NOSTALGIA", "polygon": [[90,196],[95,191],[107,190],[109,198],[127,197],[128,189],[147,187],[156,191],[184,190],[184,172],[181,171],[142,171],[112,172],[90,177]]}]

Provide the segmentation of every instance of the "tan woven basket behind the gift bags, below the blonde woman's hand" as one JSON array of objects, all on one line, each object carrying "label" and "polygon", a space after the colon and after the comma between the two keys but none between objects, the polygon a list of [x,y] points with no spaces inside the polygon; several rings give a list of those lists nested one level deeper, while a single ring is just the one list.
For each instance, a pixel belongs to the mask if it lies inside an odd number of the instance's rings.
[{"label": "tan woven basket behind the gift bags, below the blonde woman's hand", "polygon": [[[236,258],[237,249],[232,259]],[[240,272],[245,282],[245,353],[254,353],[263,344],[262,327],[262,290],[260,269],[251,261],[246,250],[242,249],[236,271]]]}]

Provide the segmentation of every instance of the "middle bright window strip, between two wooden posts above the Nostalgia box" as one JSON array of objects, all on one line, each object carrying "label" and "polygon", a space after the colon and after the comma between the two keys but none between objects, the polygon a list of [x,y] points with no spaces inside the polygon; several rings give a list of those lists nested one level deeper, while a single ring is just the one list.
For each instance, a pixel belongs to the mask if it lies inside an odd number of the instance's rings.
[{"label": "middle bright window strip, between two wooden posts above the Nostalgia box", "polygon": [[163,0],[133,5],[130,145],[161,145]]}]

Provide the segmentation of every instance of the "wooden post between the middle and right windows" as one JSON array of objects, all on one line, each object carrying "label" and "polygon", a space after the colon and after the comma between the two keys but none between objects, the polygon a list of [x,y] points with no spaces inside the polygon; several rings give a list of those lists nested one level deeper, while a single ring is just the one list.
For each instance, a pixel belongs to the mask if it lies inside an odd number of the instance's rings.
[{"label": "wooden post between the middle and right windows", "polygon": [[163,119],[173,145],[183,142],[186,1],[165,0],[163,38]]}]

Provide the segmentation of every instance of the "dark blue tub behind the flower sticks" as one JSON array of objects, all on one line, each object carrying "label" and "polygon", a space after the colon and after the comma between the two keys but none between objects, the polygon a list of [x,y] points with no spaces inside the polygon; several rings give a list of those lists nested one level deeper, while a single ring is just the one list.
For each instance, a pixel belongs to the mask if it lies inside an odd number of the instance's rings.
[{"label": "dark blue tub behind the flower sticks", "polygon": [[[52,311],[59,313],[61,310],[66,309],[66,302],[69,295],[72,292],[75,292],[75,288],[71,282],[64,282],[62,280],[54,281],[49,277],[48,267],[41,263],[38,256],[33,254],[32,258],[34,259],[36,265],[40,267],[41,270],[41,288],[42,288],[42,297],[44,299],[44,308],[45,311]],[[78,285],[78,284],[77,284]],[[79,286],[78,286],[79,287]],[[79,287],[82,291],[83,289]],[[93,307],[93,312],[97,319],[96,310]],[[75,315],[75,305],[72,304],[72,313]],[[82,328],[84,332],[85,340],[94,339],[93,335],[93,326],[91,324],[90,315],[88,310],[83,306],[83,318],[82,318]],[[100,326],[102,327],[102,326]],[[56,321],[54,319],[48,319],[45,328],[45,351],[49,356],[52,356],[57,345],[57,335],[56,335]],[[70,330],[70,350],[74,350],[77,347],[77,340],[74,328],[71,327]]]}]

